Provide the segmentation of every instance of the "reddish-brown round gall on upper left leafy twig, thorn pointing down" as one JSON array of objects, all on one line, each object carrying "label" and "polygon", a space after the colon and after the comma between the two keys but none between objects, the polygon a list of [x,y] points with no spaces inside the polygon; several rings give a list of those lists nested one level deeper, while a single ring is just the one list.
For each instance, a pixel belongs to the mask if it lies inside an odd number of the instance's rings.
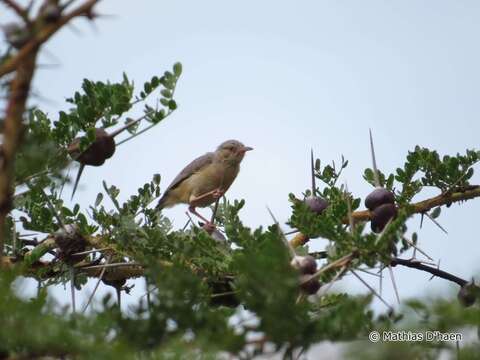
[{"label": "reddish-brown round gall on upper left leafy twig, thorn pointing down", "polygon": [[67,151],[82,165],[101,166],[115,153],[115,140],[104,129],[95,129],[95,141],[84,152],[80,152],[80,138],[74,139]]}]

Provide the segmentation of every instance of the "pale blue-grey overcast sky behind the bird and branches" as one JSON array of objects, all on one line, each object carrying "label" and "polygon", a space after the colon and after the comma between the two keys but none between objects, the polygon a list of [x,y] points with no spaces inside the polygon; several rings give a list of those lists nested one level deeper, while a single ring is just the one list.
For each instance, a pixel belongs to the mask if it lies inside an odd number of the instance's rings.
[{"label": "pale blue-grey overcast sky behind the bird and branches", "polygon": [[[349,167],[342,181],[362,198],[372,189],[362,178],[370,166],[369,128],[384,172],[402,166],[417,144],[441,154],[478,149],[478,1],[110,0],[98,11],[113,16],[94,28],[76,21],[76,31],[57,34],[41,57],[60,64],[38,71],[34,82],[40,107],[54,118],[84,78],[117,81],[125,71],[143,84],[175,61],[184,72],[170,118],[119,147],[104,166],[86,169],[76,196],[84,207],[102,180],[119,187],[122,199],[154,173],[165,187],[189,161],[230,138],[255,148],[227,193],[246,200],[241,217],[251,227],[271,223],[266,205],[288,219],[288,193],[309,185],[310,148],[323,163],[343,154]],[[182,226],[185,210],[166,214]],[[427,220],[420,246],[442,269],[471,278],[479,270],[479,212],[479,201],[444,209],[448,235]],[[411,229],[419,222],[410,220]],[[311,242],[314,249],[325,244]],[[402,299],[452,295],[426,273],[395,274]],[[342,287],[366,291],[354,279]],[[125,304],[142,293],[137,286]]]}]

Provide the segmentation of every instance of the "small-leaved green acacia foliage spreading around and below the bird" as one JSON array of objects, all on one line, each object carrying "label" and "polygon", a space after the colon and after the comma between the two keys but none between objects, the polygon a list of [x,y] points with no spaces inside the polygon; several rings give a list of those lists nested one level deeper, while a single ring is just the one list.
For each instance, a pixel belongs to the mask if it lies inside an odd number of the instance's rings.
[{"label": "small-leaved green acacia foliage spreading around and below the bird", "polygon": [[[128,128],[128,139],[148,130],[177,109],[174,93],[181,73],[177,63],[172,71],[144,83],[138,95],[126,75],[119,83],[85,80],[82,90],[67,100],[71,108],[61,111],[57,120],[37,108],[29,111],[24,143],[17,155],[15,211],[9,219],[5,249],[18,266],[0,277],[0,319],[4,321],[0,358],[216,358],[221,354],[251,358],[268,351],[291,358],[323,340],[365,339],[373,329],[418,327],[426,320],[430,327],[445,330],[480,325],[477,307],[463,309],[454,302],[410,302],[407,306],[423,315],[403,318],[375,315],[370,309],[372,295],[328,293],[307,299],[278,224],[250,229],[240,220],[244,201],[223,199],[215,220],[225,241],[214,239],[196,224],[174,230],[170,220],[151,206],[162,192],[159,174],[130,197],[103,182],[88,209],[69,206],[63,188],[73,161],[66,150],[72,141],[81,137],[80,148],[87,149],[95,141],[96,127],[131,123],[130,112],[140,103],[148,125],[137,123]],[[156,104],[147,103],[155,93]],[[383,266],[392,255],[411,249],[417,241],[416,234],[412,242],[406,241],[413,197],[427,186],[442,193],[468,188],[472,166],[479,157],[480,152],[468,150],[466,155],[440,158],[435,151],[417,147],[408,153],[403,169],[389,175],[379,172],[381,184],[394,191],[399,206],[398,216],[381,234],[368,231],[365,223],[357,223],[353,229],[347,225],[351,211],[361,207],[360,197],[338,185],[348,161],[342,157],[337,169],[335,164],[322,167],[317,160],[314,175],[324,185],[313,189],[313,195],[329,205],[319,215],[303,199],[290,194],[288,224],[308,238],[329,240],[322,260],[325,264],[354,255],[348,264],[351,269]],[[366,169],[364,178],[373,184],[373,171]],[[305,191],[304,196],[309,195],[312,190]],[[432,213],[432,217],[438,215],[438,210]],[[38,244],[23,233],[34,232],[38,238],[65,224],[78,226],[81,235],[95,241],[97,247],[111,249],[115,262],[140,264],[151,289],[149,300],[140,298],[128,312],[118,311],[109,296],[94,301],[86,314],[72,315],[70,309],[59,308],[46,290],[72,280],[70,265],[47,247],[27,258]],[[297,252],[308,253],[308,246]],[[92,253],[79,261],[88,266],[98,264],[101,258]],[[20,274],[42,281],[37,297],[24,299],[16,294]],[[336,275],[336,271],[325,271],[319,280],[327,284]],[[86,280],[79,267],[74,279],[77,290],[82,290]],[[427,345],[418,346],[425,354],[439,351]],[[468,354],[472,349],[462,351]],[[413,349],[405,351],[414,354]]]}]

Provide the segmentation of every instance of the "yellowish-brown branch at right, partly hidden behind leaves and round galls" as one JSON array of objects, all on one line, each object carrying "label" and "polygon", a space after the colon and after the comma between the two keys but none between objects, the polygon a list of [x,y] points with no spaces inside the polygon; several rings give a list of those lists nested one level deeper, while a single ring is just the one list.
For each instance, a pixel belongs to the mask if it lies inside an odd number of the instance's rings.
[{"label": "yellowish-brown branch at right, partly hidden behind leaves and round galls", "polygon": [[[450,205],[455,202],[466,201],[476,197],[480,197],[480,185],[471,185],[465,189],[442,193],[430,199],[410,204],[410,215],[422,214],[437,206]],[[355,211],[352,213],[352,218],[355,222],[369,221],[372,218],[372,213],[369,210]],[[348,224],[348,221],[348,218],[343,219],[344,224]],[[306,244],[309,240],[310,239],[305,234],[298,233],[292,240],[290,240],[290,243],[293,247],[298,247]]]}]

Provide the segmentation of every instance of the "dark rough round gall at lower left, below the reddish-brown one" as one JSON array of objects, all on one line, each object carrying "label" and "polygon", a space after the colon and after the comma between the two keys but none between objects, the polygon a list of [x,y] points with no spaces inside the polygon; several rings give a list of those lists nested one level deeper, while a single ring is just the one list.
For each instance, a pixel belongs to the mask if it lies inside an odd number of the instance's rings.
[{"label": "dark rough round gall at lower left, below the reddish-brown one", "polygon": [[59,248],[58,257],[67,264],[75,264],[83,260],[86,255],[72,256],[75,253],[82,252],[87,246],[87,241],[80,234],[78,226],[75,224],[66,224],[54,234],[55,243]]}]

